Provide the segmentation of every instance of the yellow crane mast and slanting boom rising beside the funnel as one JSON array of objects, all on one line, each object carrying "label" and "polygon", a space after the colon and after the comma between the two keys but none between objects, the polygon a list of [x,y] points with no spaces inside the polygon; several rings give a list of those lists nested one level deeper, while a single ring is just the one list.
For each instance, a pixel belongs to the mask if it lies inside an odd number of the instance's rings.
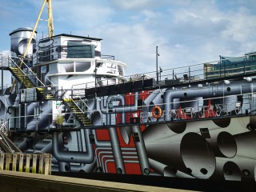
[{"label": "yellow crane mast and slanting boom rising beside the funnel", "polygon": [[[35,30],[38,28],[38,22],[40,21],[40,18],[41,18],[41,15],[42,15],[42,11],[43,11],[44,7],[46,6],[46,2],[48,2],[48,19],[47,19],[47,22],[48,22],[48,36],[49,36],[49,38],[54,36],[54,18],[53,18],[51,0],[44,0],[43,3],[42,3],[41,10],[40,10],[40,12],[38,14],[37,21],[34,24],[34,29],[33,29],[32,34],[30,36],[30,40],[29,40],[29,42],[28,42],[28,44],[26,46],[26,50],[25,50],[25,52],[23,54],[22,61],[20,63],[20,67],[22,67],[22,65],[23,65],[24,58],[26,58],[26,54],[27,54],[27,52],[29,50],[32,38],[34,37]],[[15,83],[16,83],[16,79],[14,79],[14,82],[13,82],[11,88],[10,88],[10,93],[13,91]]]}]

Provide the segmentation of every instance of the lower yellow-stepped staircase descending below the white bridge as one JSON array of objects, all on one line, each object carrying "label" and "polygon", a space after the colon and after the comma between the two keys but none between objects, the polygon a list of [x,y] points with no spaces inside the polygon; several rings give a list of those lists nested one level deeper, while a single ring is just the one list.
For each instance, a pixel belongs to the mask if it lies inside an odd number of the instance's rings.
[{"label": "lower yellow-stepped staircase descending below the white bridge", "polygon": [[78,99],[74,100],[72,98],[64,98],[63,102],[64,105],[70,109],[70,113],[74,115],[74,118],[78,120],[81,126],[93,126],[90,119],[86,117],[84,112],[87,110],[85,102],[79,102]]}]

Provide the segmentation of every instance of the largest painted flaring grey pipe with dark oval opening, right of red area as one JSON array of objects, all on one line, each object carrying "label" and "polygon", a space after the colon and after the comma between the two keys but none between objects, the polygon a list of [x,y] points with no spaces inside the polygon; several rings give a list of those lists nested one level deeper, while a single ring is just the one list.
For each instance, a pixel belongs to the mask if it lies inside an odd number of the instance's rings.
[{"label": "largest painted flaring grey pipe with dark oval opening, right of red area", "polygon": [[214,173],[214,152],[200,134],[176,134],[166,125],[150,125],[143,138],[147,156],[157,162],[196,178],[210,178]]}]

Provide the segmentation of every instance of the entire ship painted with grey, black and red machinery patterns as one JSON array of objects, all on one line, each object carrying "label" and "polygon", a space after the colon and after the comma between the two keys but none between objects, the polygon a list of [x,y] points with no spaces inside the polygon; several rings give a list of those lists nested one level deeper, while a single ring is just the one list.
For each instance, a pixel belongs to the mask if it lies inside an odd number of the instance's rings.
[{"label": "entire ship painted with grey, black and red machinery patterns", "polygon": [[255,182],[256,53],[126,76],[101,38],[50,29],[12,31],[0,55],[2,153],[52,154],[52,172]]}]

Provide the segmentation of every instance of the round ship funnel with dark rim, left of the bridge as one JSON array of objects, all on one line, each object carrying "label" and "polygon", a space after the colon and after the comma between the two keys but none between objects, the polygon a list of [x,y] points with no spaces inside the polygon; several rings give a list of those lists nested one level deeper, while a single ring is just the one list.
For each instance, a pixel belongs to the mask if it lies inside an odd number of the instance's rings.
[{"label": "round ship funnel with dark rim, left of the bridge", "polygon": [[[13,56],[22,57],[24,55],[26,46],[28,45],[32,31],[33,30],[31,28],[24,27],[24,28],[18,28],[17,30],[14,30],[9,34],[10,35],[10,51],[14,53]],[[32,38],[32,41],[30,43],[30,47],[27,52],[27,55],[28,55],[27,58],[32,58],[32,54],[35,52],[35,47],[36,47],[36,33],[34,34],[34,37]],[[28,60],[26,62],[32,63],[31,60]]]}]

